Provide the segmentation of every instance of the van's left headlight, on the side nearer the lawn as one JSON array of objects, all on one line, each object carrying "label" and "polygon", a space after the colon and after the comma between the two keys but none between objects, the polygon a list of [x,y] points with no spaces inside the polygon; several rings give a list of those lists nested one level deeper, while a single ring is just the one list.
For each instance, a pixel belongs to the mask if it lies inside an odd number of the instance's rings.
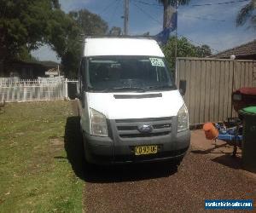
[{"label": "van's left headlight, on the side nearer the lawn", "polygon": [[90,108],[90,122],[91,122],[91,135],[107,137],[108,136],[108,124],[106,117],[94,109]]}]

